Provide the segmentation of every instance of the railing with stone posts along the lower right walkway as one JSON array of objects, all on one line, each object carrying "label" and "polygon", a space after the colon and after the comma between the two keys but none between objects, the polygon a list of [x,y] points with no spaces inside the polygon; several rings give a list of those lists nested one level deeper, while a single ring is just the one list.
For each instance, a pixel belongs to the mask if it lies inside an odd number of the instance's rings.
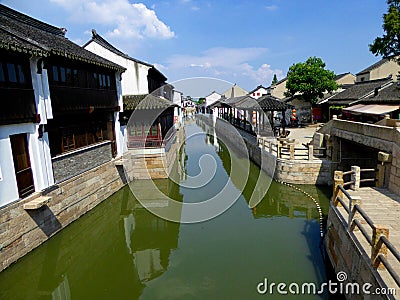
[{"label": "railing with stone posts along the lower right walkway", "polygon": [[[339,212],[338,207],[343,207],[346,211],[348,218],[347,221],[344,221],[347,223],[346,230],[349,234],[354,234],[354,231],[359,230],[368,242],[371,247],[371,266],[375,269],[387,270],[400,287],[400,277],[387,259],[388,251],[390,251],[397,262],[400,263],[400,252],[389,241],[389,227],[375,224],[362,209],[360,197],[351,196],[345,189],[345,187],[350,187],[356,190],[362,182],[371,182],[372,180],[369,178],[363,181],[361,173],[375,171],[375,169],[360,169],[358,166],[353,166],[352,170],[348,172],[335,171],[332,204],[337,212]],[[351,175],[351,180],[344,182],[343,178],[346,175]]]}]

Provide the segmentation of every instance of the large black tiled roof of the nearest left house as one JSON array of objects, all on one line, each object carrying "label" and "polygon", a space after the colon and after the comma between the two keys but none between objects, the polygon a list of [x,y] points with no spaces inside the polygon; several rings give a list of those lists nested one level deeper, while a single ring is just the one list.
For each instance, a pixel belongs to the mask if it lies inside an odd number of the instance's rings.
[{"label": "large black tiled roof of the nearest left house", "polygon": [[0,48],[37,56],[62,56],[89,64],[124,71],[65,37],[66,30],[36,20],[0,4]]}]

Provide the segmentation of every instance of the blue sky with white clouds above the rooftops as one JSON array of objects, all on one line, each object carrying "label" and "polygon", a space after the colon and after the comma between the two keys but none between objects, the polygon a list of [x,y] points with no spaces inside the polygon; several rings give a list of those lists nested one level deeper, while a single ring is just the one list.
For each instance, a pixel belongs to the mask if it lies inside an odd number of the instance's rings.
[{"label": "blue sky with white clouds above the rooftops", "polygon": [[131,1],[0,0],[66,27],[82,45],[91,29],[137,59],[155,64],[169,82],[213,77],[252,90],[310,56],[340,74],[380,58],[368,50],[383,34],[384,0]]}]

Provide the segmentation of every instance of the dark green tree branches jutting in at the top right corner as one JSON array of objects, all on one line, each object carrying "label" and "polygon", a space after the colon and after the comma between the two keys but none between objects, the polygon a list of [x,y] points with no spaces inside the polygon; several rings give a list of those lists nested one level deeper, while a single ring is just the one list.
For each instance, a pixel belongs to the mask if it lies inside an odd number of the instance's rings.
[{"label": "dark green tree branches jutting in at the top right corner", "polygon": [[383,30],[385,34],[377,37],[369,50],[375,55],[391,57],[400,63],[400,1],[387,0],[388,12],[383,15]]}]

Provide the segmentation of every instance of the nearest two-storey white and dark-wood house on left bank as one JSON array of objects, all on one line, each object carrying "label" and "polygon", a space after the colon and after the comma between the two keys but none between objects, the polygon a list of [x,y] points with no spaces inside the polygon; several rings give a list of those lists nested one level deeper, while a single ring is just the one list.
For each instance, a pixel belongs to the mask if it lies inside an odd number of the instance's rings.
[{"label": "nearest two-storey white and dark-wood house on left bank", "polygon": [[121,152],[124,68],[0,5],[0,206]]}]

